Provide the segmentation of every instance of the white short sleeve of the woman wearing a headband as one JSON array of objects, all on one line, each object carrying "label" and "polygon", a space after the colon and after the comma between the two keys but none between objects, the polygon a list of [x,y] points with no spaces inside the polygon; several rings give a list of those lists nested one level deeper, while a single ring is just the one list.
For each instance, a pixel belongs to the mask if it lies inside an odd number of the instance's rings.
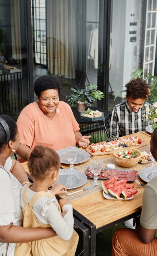
[{"label": "white short sleeve of the woman wearing a headband", "polygon": [[9,173],[0,168],[0,226],[15,224],[15,197]]}]

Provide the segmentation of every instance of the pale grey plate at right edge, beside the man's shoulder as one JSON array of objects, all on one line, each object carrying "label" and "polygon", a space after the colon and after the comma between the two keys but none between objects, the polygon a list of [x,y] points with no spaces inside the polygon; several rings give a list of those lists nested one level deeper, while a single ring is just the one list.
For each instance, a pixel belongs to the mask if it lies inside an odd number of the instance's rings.
[{"label": "pale grey plate at right edge, beside the man's shoulder", "polygon": [[139,172],[139,176],[145,182],[149,182],[157,176],[157,167],[148,167]]}]

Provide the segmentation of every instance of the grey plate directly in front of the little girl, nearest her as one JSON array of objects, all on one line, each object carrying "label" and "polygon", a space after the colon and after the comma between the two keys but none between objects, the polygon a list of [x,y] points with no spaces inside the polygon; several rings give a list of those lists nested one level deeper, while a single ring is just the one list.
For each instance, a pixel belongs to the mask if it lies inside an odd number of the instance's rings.
[{"label": "grey plate directly in front of the little girl, nearest her", "polygon": [[87,176],[77,170],[60,169],[59,178],[56,183],[61,183],[67,189],[80,187],[87,182]]}]

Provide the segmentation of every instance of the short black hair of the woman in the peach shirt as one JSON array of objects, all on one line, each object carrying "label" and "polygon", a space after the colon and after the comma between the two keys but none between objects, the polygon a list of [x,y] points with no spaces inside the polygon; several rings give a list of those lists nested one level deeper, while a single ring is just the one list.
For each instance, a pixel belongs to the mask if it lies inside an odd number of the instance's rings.
[{"label": "short black hair of the woman in the peach shirt", "polygon": [[42,91],[46,91],[48,89],[54,89],[58,91],[58,95],[60,94],[61,83],[57,76],[40,76],[35,81],[34,91],[35,94],[40,97]]}]

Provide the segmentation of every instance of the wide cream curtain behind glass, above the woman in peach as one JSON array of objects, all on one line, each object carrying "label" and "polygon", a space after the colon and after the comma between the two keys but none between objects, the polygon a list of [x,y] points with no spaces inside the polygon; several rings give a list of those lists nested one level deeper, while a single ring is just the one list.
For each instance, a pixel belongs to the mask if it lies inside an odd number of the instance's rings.
[{"label": "wide cream curtain behind glass, above the woman in peach", "polygon": [[75,78],[75,1],[47,0],[46,23],[49,72]]}]

